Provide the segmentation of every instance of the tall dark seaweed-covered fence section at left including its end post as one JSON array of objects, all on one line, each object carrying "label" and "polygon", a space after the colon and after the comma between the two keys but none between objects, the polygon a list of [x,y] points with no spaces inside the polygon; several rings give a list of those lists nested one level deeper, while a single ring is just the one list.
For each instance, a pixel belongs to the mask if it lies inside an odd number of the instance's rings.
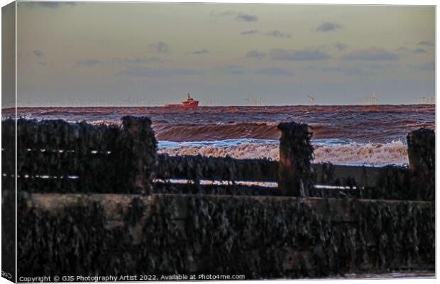
[{"label": "tall dark seaweed-covered fence section at left including its end post", "polygon": [[[148,192],[155,176],[156,144],[147,117],[123,118],[122,127],[63,120],[5,119],[5,182],[27,192]],[[16,129],[15,129],[16,127]],[[9,133],[11,135],[9,136]],[[14,138],[15,140],[15,138]],[[15,156],[16,150],[16,165]]]}]

